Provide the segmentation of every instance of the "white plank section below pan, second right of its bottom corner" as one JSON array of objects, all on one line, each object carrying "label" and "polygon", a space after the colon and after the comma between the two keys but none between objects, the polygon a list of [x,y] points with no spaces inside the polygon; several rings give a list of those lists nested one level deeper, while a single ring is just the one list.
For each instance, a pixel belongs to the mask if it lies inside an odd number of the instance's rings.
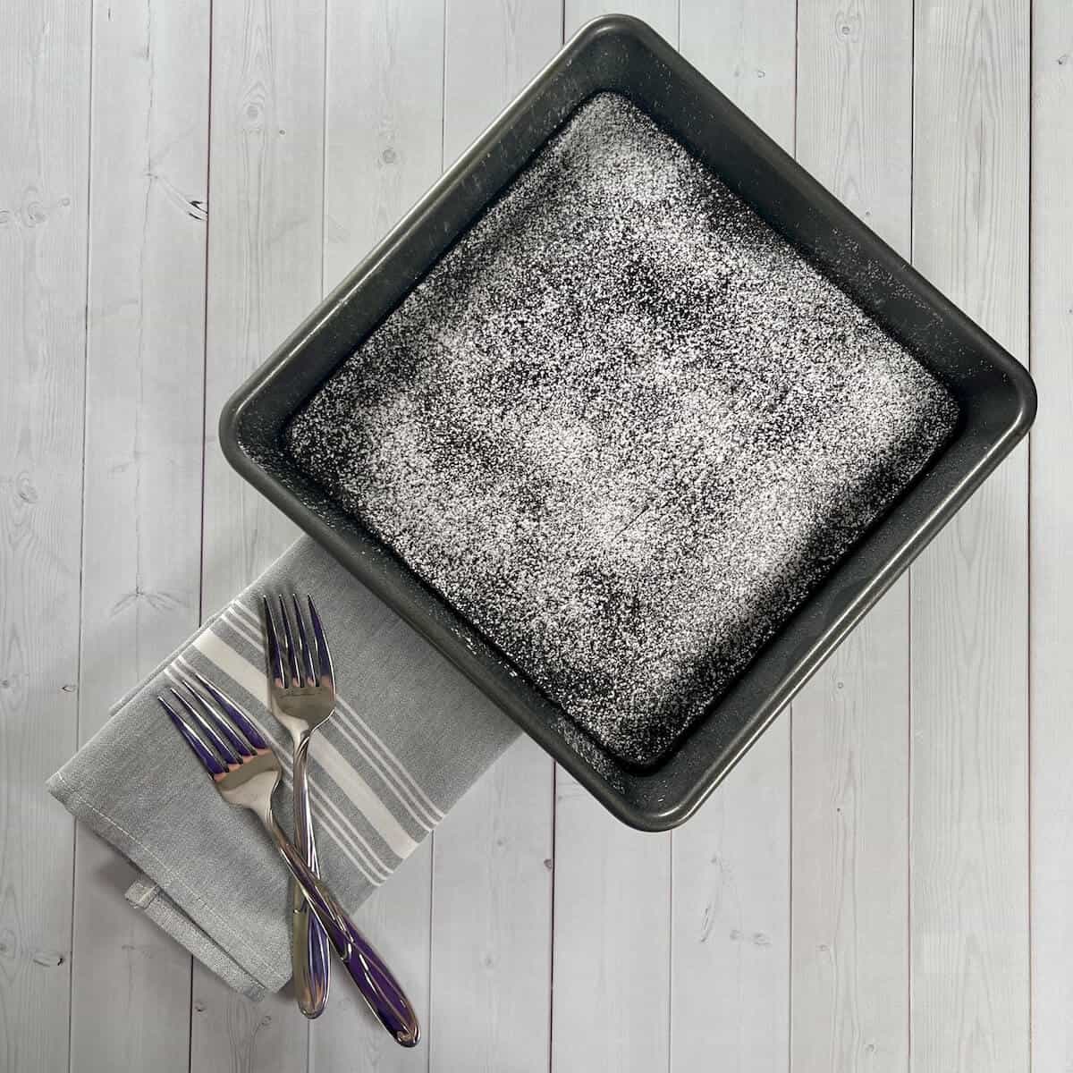
[{"label": "white plank section below pan, second right of its bottom corner", "polygon": [[908,596],[794,701],[794,1070],[909,1068]]}]

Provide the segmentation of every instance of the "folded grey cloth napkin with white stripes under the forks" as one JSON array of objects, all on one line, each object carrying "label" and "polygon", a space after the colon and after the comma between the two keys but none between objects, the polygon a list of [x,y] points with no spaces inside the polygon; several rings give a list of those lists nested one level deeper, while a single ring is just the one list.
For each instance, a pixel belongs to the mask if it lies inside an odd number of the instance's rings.
[{"label": "folded grey cloth napkin with white stripes under the forks", "polygon": [[290,831],[291,741],[268,711],[260,611],[262,593],[280,592],[312,596],[332,648],[339,704],[312,739],[309,779],[321,870],[351,911],[519,733],[308,538],[123,697],[49,792],[142,871],[128,900],[252,998],[291,975],[289,873],[157,695],[195,668],[247,709],[283,761],[276,805]]}]

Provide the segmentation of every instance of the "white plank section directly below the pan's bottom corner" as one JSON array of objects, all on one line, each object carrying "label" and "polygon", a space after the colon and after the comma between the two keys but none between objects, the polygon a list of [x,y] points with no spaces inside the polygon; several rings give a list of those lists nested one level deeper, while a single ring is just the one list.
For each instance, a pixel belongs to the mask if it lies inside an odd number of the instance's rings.
[{"label": "white plank section directly below the pan's bottom corner", "polygon": [[556,770],[552,1070],[666,1070],[671,839]]}]

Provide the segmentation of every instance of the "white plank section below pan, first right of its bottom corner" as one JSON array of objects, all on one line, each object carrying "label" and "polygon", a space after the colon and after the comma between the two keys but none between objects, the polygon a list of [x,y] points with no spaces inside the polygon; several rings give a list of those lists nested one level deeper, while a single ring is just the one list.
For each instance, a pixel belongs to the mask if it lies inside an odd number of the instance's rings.
[{"label": "white plank section below pan, first right of its bottom corner", "polygon": [[671,1069],[785,1070],[790,720],[673,832]]}]

